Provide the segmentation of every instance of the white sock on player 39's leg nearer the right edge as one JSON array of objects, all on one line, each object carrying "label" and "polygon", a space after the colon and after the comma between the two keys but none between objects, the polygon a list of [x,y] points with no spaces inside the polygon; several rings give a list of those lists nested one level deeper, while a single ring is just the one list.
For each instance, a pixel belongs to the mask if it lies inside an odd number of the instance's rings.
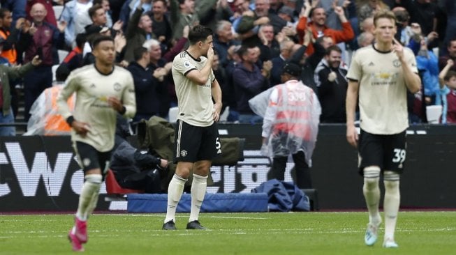
[{"label": "white sock on player 39's leg nearer the right edge", "polygon": [[392,171],[385,171],[383,174],[385,184],[385,201],[383,210],[385,211],[385,240],[395,240],[395,228],[401,194],[399,191],[399,174]]}]

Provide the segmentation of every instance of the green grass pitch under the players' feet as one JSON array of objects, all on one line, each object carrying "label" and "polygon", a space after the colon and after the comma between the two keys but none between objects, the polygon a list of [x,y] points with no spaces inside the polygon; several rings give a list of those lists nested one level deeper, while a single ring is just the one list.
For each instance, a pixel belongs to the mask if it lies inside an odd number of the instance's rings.
[{"label": "green grass pitch under the players' feet", "polygon": [[[202,213],[208,231],[162,231],[163,214],[95,214],[85,254],[456,254],[456,212],[399,212],[399,249],[364,245],[367,212]],[[73,215],[0,215],[0,254],[73,254]]]}]

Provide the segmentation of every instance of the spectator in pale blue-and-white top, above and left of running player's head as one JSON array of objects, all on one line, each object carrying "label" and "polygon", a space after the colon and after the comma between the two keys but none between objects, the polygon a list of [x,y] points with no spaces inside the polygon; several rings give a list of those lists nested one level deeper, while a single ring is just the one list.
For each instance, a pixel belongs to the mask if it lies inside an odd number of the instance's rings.
[{"label": "spectator in pale blue-and-white top, above and left of running player's head", "polygon": [[68,24],[65,30],[65,42],[68,47],[74,47],[76,35],[84,33],[84,28],[92,23],[89,16],[91,6],[91,0],[71,0],[65,3],[60,20]]}]

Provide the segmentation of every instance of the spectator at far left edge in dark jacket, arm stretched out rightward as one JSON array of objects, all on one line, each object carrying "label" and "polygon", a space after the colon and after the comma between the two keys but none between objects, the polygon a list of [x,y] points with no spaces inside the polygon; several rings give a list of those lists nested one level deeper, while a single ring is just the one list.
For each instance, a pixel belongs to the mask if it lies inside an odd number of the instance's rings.
[{"label": "spectator at far left edge in dark jacket, arm stretched out rightward", "polygon": [[[3,50],[5,40],[0,38],[0,53]],[[15,136],[16,128],[14,125],[14,113],[11,109],[11,87],[10,80],[24,77],[34,66],[39,65],[41,61],[35,57],[30,63],[12,68],[8,65],[0,65],[0,137]]]}]

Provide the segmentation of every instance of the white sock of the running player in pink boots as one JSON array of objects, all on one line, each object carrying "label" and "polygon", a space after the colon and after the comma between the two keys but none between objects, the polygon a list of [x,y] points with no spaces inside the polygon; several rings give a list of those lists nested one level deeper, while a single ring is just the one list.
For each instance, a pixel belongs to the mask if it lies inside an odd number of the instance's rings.
[{"label": "white sock of the running player in pink boots", "polygon": [[76,217],[82,221],[86,221],[90,213],[94,211],[96,206],[92,205],[94,197],[98,200],[98,192],[101,186],[101,174],[87,174],[85,182],[82,185],[81,194],[79,196],[78,212]]}]

